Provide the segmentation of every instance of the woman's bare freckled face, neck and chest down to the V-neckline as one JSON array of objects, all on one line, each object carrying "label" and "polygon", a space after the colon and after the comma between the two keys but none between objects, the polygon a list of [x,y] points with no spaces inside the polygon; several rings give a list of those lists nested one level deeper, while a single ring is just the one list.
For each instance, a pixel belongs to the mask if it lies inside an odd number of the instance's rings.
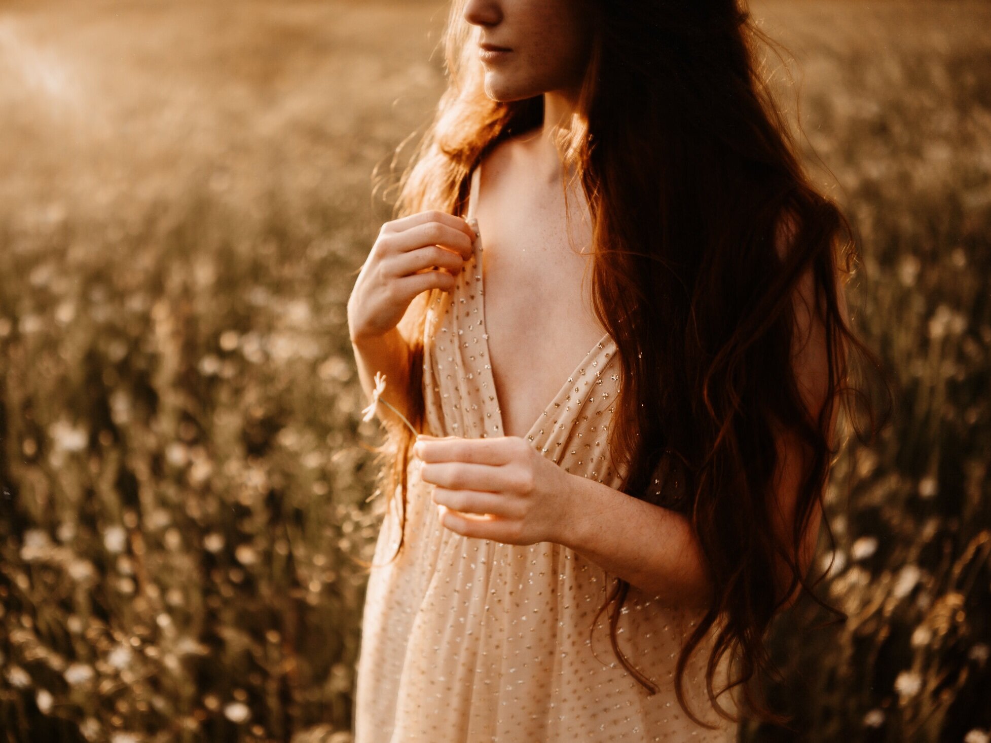
[{"label": "woman's bare freckled face, neck and chest down to the V-neckline", "polygon": [[[567,374],[604,335],[589,285],[592,228],[585,195],[567,201],[552,144],[570,121],[588,60],[584,2],[469,2],[474,43],[511,51],[485,69],[495,100],[543,95],[543,127],[501,143],[483,161],[477,215],[485,250],[485,311],[506,435],[522,436]],[[534,297],[541,312],[533,312]]]}]

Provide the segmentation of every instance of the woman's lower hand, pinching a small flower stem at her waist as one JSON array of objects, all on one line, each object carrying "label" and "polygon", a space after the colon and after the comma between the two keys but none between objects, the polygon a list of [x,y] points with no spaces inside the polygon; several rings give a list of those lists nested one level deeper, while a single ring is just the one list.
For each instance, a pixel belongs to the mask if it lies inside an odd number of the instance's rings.
[{"label": "woman's lower hand, pinching a small flower stem at her waist", "polygon": [[420,435],[413,454],[434,485],[443,526],[514,545],[556,542],[567,528],[573,478],[518,436]]}]

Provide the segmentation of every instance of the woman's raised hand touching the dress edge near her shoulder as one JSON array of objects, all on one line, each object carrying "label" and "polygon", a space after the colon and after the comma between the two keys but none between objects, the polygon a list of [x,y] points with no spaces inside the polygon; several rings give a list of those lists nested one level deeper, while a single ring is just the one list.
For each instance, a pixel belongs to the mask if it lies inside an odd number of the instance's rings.
[{"label": "woman's raised hand touching the dress edge near her shoulder", "polygon": [[390,331],[421,291],[450,291],[475,238],[464,219],[436,210],[385,222],[348,299],[351,339]]}]

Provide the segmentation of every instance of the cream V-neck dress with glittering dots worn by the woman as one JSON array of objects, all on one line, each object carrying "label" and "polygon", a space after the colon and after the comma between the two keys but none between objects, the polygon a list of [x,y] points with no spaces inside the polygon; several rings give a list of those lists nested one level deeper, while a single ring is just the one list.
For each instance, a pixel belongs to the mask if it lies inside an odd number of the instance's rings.
[{"label": "cream V-neck dress with glittering dots worn by the woman", "polygon": [[[472,173],[468,219],[480,172]],[[423,394],[437,436],[503,435],[489,364],[481,239],[475,249],[454,289],[433,289],[428,299]],[[611,487],[620,481],[606,447],[619,378],[614,360],[606,334],[526,435],[567,472]],[[696,615],[630,587],[617,642],[659,687],[648,695],[615,658],[605,611],[590,642],[592,618],[614,578],[559,544],[507,545],[445,528],[419,465],[412,458],[408,469],[402,552],[370,574],[355,743],[736,739],[736,725],[719,717],[706,695],[708,643],[693,654],[685,690],[690,708],[719,729],[693,723],[675,696],[675,660]],[[376,566],[393,555],[399,538],[400,504],[387,502]],[[724,656],[716,690],[724,685],[726,662]],[[735,709],[728,693],[719,702]]]}]

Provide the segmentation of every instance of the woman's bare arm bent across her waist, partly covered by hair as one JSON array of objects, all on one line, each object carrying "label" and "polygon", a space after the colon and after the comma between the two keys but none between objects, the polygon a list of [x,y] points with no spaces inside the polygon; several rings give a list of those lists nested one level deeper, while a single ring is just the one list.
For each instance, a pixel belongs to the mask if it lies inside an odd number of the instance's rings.
[{"label": "woman's bare arm bent across her waist, partly covered by hair", "polygon": [[[804,402],[816,418],[827,399],[828,370],[823,314],[816,311],[823,305],[813,299],[814,286],[807,272],[796,289],[792,363]],[[571,475],[516,436],[418,438],[414,453],[424,463],[420,474],[434,485],[433,501],[446,528],[505,544],[562,544],[669,604],[709,605],[714,589],[709,566],[688,517]],[[805,452],[787,431],[775,431],[775,443],[781,456],[772,478],[772,528],[787,549]],[[803,574],[815,549],[819,518],[814,511],[800,539],[797,563]],[[780,557],[775,574],[771,580],[783,593],[791,571]]]}]

